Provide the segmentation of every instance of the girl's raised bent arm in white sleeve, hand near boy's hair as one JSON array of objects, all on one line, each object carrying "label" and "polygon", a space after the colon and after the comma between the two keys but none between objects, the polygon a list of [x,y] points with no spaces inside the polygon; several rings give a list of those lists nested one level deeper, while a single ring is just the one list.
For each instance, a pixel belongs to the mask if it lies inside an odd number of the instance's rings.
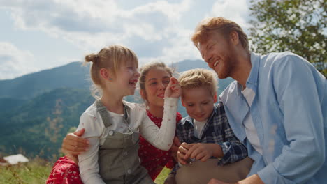
[{"label": "girl's raised bent arm in white sleeve, hand near boy's hair", "polygon": [[181,91],[177,79],[172,77],[165,91],[163,120],[160,129],[147,116],[143,116],[142,123],[140,123],[140,134],[150,144],[161,150],[169,150],[173,144],[176,128],[177,102]]}]

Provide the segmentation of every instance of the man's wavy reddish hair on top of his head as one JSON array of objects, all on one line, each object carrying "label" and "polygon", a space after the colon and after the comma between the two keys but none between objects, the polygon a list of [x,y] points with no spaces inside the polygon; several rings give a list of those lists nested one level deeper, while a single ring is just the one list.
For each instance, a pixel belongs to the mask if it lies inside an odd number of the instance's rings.
[{"label": "man's wavy reddish hair on top of his head", "polygon": [[199,49],[200,44],[205,43],[208,40],[210,33],[215,31],[222,33],[226,39],[229,38],[232,31],[236,31],[242,47],[249,52],[249,41],[245,32],[238,24],[231,20],[226,20],[224,17],[208,17],[202,20],[196,26],[191,40]]}]

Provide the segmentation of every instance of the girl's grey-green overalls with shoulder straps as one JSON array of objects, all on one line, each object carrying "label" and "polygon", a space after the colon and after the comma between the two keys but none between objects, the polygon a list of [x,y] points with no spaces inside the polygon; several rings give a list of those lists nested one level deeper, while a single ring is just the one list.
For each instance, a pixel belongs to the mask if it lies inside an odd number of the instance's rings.
[{"label": "girl's grey-green overalls with shoulder straps", "polygon": [[[100,100],[94,102],[106,128],[112,120]],[[129,128],[130,109],[124,105],[124,123]],[[128,133],[110,130],[108,137],[99,148],[99,174],[105,183],[154,183],[147,169],[140,166],[138,158],[139,133],[129,128]]]}]

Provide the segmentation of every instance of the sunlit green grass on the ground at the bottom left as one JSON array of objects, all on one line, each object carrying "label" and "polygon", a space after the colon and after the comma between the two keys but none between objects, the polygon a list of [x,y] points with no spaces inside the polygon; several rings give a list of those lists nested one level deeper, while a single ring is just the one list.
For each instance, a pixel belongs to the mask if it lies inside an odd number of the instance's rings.
[{"label": "sunlit green grass on the ground at the bottom left", "polygon": [[[44,184],[53,164],[54,162],[34,159],[13,166],[0,166],[0,184]],[[170,169],[165,167],[154,182],[162,184],[169,172]]]}]

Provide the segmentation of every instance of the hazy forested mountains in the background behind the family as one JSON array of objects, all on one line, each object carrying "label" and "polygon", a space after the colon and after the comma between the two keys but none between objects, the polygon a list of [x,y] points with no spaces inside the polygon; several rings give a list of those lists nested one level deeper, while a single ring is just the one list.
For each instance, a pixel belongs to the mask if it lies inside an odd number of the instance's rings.
[{"label": "hazy forested mountains in the background behind the family", "polygon": [[[201,60],[185,60],[173,67],[177,72],[208,68]],[[66,133],[78,126],[80,114],[94,102],[88,73],[88,67],[73,62],[0,81],[0,155],[56,158]],[[219,80],[219,93],[231,81]],[[125,100],[143,102],[138,93]],[[187,116],[182,105],[178,111]]]}]

